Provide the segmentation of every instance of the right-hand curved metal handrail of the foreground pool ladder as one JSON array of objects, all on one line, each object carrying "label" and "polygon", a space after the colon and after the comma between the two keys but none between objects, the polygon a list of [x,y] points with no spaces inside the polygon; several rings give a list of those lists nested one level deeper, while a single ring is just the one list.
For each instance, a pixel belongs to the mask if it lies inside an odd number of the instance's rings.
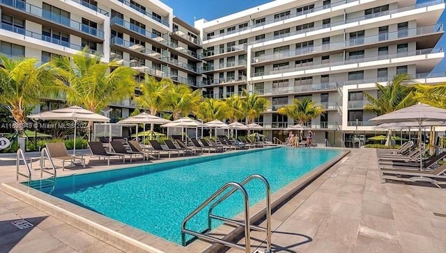
[{"label": "right-hand curved metal handrail of the foreground pool ladder", "polygon": [[[254,229],[257,231],[266,231],[266,253],[270,253],[271,252],[271,203],[270,203],[271,187],[270,187],[270,183],[268,182],[268,180],[266,180],[265,177],[263,177],[262,175],[259,175],[259,174],[250,175],[245,180],[243,180],[240,183],[240,185],[245,186],[245,184],[249,183],[249,181],[252,181],[252,179],[260,179],[263,183],[265,183],[265,187],[266,187],[266,229],[263,227],[254,226],[254,225],[251,225],[249,227],[251,229]],[[215,208],[215,206],[219,205],[225,199],[230,197],[233,193],[236,192],[236,190],[237,190],[236,188],[233,188],[228,193],[226,193],[223,197],[220,197],[220,199],[218,199],[216,202],[214,202],[214,204],[212,204],[212,206],[210,206],[209,211],[208,211],[208,229],[209,230],[212,227],[212,219],[222,220],[224,222],[232,223],[235,225],[241,225],[241,226],[244,225],[243,222],[239,222],[237,220],[232,220],[232,219],[228,219],[228,218],[224,218],[224,217],[212,214],[212,211]]]}]

